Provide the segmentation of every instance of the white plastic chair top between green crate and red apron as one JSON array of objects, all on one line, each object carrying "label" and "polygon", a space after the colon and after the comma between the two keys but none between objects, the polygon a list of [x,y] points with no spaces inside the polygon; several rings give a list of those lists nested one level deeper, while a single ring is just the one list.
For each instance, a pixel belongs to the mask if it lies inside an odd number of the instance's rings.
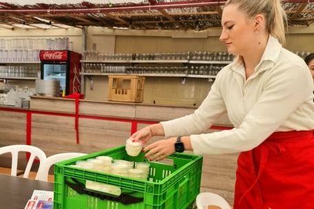
[{"label": "white plastic chair top between green crate and red apron", "polygon": [[218,206],[221,209],[231,209],[229,203],[220,195],[211,192],[202,192],[196,197],[198,209],[207,209],[208,206]]}]

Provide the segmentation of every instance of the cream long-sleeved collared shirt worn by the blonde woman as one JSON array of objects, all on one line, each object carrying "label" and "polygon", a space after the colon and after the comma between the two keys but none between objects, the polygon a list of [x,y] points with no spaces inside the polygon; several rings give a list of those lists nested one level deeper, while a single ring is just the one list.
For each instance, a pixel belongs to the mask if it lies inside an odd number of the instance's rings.
[{"label": "cream long-sleeved collared shirt worn by the blonde woman", "polygon": [[[224,113],[234,129],[200,134]],[[302,58],[269,36],[248,79],[243,62],[235,58],[193,114],[161,124],[166,138],[190,135],[197,155],[249,151],[276,131],[313,130],[313,78]]]}]

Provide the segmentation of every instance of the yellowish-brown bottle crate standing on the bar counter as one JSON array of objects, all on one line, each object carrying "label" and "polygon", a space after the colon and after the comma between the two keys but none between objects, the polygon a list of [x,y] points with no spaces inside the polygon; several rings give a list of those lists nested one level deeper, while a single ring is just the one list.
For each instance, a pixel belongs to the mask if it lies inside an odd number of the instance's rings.
[{"label": "yellowish-brown bottle crate standing on the bar counter", "polygon": [[145,77],[109,75],[108,100],[143,102]]}]

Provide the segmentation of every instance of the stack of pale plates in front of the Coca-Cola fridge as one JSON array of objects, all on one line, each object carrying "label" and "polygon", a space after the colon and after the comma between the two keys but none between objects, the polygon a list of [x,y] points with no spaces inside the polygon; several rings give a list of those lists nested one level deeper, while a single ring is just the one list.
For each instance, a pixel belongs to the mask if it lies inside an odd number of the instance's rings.
[{"label": "stack of pale plates in front of the Coca-Cola fridge", "polygon": [[58,97],[60,94],[59,80],[36,80],[37,96]]}]

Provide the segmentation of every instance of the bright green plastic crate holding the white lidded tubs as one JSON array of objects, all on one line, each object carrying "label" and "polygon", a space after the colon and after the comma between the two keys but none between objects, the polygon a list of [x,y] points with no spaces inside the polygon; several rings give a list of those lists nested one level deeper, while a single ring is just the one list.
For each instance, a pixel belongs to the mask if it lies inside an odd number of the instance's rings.
[{"label": "bright green plastic crate holding the white lidded tubs", "polygon": [[[200,193],[202,156],[176,153],[167,157],[173,164],[149,162],[149,181],[106,174],[94,170],[74,168],[78,160],[109,156],[114,159],[145,162],[145,153],[136,157],[127,155],[125,146],[92,153],[56,163],[54,166],[54,209],[180,209],[196,208],[196,196]],[[86,180],[118,186],[120,197],[105,193],[79,194],[71,184],[85,185]],[[67,181],[67,184],[65,184]],[[97,193],[97,192],[96,192]],[[94,195],[94,196],[92,196]],[[95,197],[96,196],[96,197]],[[127,203],[126,199],[136,201]]]}]

